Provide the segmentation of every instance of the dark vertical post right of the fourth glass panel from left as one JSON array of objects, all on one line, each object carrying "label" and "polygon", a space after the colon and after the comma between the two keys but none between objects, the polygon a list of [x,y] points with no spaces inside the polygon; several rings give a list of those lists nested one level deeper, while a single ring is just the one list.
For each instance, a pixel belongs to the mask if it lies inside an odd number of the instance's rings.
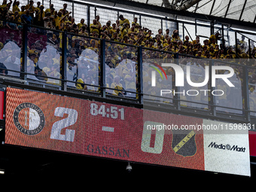
[{"label": "dark vertical post right of the fourth glass panel from left", "polygon": [[142,68],[142,47],[138,48],[138,91],[139,91],[139,103],[143,104],[143,68]]}]

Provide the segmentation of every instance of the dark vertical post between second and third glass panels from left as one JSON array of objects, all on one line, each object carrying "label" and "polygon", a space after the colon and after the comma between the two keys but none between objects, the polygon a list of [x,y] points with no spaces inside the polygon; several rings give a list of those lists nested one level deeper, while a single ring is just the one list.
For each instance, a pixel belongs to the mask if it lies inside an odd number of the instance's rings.
[{"label": "dark vertical post between second and third glass panels from left", "polygon": [[62,59],[61,59],[61,76],[62,76],[62,84],[61,89],[67,90],[67,31],[64,30],[62,32]]}]

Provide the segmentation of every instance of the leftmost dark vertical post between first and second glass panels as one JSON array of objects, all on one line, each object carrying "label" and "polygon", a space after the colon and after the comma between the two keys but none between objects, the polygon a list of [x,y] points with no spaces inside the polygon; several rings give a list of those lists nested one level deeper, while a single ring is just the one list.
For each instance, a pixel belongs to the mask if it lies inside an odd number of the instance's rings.
[{"label": "leftmost dark vertical post between first and second glass panels", "polygon": [[[28,25],[24,24],[23,25],[23,63],[22,63],[22,68],[21,72],[27,72],[26,68],[26,63],[27,63],[27,53],[28,53]],[[23,80],[26,80],[26,74],[20,74],[20,78]]]}]

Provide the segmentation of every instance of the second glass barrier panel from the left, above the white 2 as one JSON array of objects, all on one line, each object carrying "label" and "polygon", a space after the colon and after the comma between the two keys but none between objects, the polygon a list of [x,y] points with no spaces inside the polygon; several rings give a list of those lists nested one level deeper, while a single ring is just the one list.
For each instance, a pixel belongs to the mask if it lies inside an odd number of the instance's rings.
[{"label": "second glass barrier panel from the left, above the white 2", "polygon": [[29,27],[27,75],[30,81],[60,86],[62,33],[50,29]]}]

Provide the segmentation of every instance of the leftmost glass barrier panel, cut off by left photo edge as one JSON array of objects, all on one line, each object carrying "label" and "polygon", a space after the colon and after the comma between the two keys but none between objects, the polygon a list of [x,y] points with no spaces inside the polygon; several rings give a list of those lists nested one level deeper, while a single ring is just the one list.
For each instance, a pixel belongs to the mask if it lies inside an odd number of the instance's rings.
[{"label": "leftmost glass barrier panel, cut off by left photo edge", "polygon": [[0,28],[0,74],[20,78],[23,26],[2,22]]}]

